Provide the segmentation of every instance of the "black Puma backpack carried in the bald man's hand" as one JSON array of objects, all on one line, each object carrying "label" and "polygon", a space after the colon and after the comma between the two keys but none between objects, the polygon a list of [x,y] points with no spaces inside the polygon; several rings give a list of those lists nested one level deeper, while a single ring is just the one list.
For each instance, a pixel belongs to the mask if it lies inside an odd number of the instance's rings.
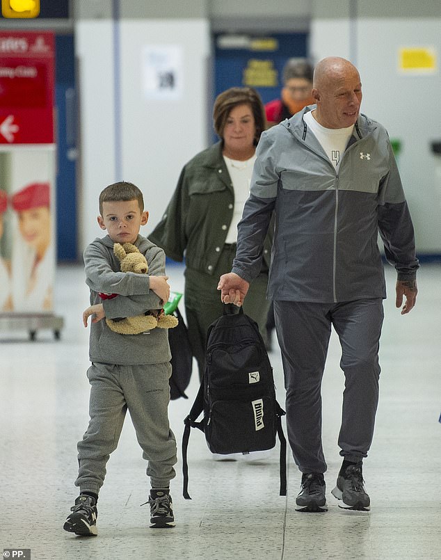
[{"label": "black Puma backpack carried in the bald man's hand", "polygon": [[[257,323],[225,305],[223,315],[209,326],[205,372],[189,415],[184,420],[182,472],[186,499],[189,469],[187,447],[191,428],[205,433],[212,453],[248,454],[275,446],[280,440],[280,495],[287,493],[287,442],[275,399],[273,369]],[[199,415],[203,419],[196,422]]]}]

